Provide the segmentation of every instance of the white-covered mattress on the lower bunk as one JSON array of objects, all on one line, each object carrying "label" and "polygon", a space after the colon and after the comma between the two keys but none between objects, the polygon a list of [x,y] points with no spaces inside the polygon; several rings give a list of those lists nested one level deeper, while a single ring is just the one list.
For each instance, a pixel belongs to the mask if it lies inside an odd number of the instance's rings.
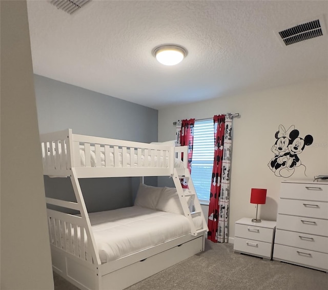
[{"label": "white-covered mattress on the lower bunk", "polygon": [[[131,206],[90,213],[90,222],[101,263],[136,253],[148,247],[189,234],[185,216]],[[197,229],[201,217],[194,218]]]}]

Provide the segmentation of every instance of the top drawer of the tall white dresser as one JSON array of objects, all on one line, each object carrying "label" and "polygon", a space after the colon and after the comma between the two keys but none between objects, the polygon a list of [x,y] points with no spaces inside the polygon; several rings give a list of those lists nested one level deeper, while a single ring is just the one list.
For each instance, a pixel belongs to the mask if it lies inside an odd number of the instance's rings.
[{"label": "top drawer of the tall white dresser", "polygon": [[328,184],[282,182],[280,198],[328,201]]}]

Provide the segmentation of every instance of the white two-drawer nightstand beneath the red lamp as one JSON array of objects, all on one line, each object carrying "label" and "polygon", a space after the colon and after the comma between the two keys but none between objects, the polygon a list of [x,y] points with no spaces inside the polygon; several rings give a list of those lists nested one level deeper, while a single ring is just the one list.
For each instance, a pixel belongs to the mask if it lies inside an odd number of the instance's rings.
[{"label": "white two-drawer nightstand beneath the red lamp", "polygon": [[275,230],[275,221],[252,222],[251,218],[237,220],[234,251],[271,260]]}]

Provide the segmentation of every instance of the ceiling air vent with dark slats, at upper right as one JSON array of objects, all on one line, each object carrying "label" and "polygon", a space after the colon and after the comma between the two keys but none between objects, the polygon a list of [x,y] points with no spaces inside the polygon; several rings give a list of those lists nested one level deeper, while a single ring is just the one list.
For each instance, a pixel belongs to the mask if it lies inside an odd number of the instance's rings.
[{"label": "ceiling air vent with dark slats, at upper right", "polygon": [[279,38],[286,46],[323,34],[324,23],[320,18],[278,32]]}]

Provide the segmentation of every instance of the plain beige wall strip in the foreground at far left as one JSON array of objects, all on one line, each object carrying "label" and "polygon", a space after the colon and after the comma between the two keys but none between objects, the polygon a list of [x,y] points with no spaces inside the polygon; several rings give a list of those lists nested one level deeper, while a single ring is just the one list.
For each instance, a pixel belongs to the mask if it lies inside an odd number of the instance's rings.
[{"label": "plain beige wall strip in the foreground at far left", "polygon": [[26,1],[1,1],[1,289],[53,289]]}]

